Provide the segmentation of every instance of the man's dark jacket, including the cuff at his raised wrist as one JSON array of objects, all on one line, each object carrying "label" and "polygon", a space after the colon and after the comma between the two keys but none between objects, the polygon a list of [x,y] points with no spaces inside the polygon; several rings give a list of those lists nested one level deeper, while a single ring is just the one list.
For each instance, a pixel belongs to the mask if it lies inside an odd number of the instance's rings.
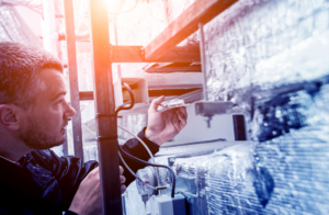
[{"label": "man's dark jacket, including the cuff at his raised wrist", "polygon": [[[138,136],[154,154],[159,150],[144,132]],[[143,160],[149,159],[137,139],[129,139],[122,148]],[[128,159],[125,161],[135,172],[144,168]],[[71,156],[59,158],[49,149],[34,150],[19,162],[21,165],[16,166],[0,158],[0,214],[61,215],[69,208],[80,182],[99,166],[97,161],[82,163]],[[124,176],[126,185],[135,180],[126,169]]]}]

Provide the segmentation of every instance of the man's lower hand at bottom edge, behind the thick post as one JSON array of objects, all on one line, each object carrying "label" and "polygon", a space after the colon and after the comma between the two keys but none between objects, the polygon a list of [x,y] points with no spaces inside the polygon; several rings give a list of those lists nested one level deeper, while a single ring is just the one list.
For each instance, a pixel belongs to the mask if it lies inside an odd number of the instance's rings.
[{"label": "man's lower hand at bottom edge, behind the thick post", "polygon": [[[126,178],[123,174],[124,169],[120,168],[121,193],[124,193],[126,186],[123,184]],[[99,168],[92,170],[80,183],[80,186],[73,197],[69,211],[79,215],[102,214],[101,184]]]}]

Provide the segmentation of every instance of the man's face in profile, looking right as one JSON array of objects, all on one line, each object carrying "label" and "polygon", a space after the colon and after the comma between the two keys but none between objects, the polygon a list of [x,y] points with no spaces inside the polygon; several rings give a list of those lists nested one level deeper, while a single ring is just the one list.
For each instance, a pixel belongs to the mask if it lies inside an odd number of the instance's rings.
[{"label": "man's face in profile, looking right", "polygon": [[66,102],[63,75],[53,68],[39,71],[45,90],[36,95],[22,122],[21,139],[33,149],[47,149],[65,142],[68,118],[76,111]]}]

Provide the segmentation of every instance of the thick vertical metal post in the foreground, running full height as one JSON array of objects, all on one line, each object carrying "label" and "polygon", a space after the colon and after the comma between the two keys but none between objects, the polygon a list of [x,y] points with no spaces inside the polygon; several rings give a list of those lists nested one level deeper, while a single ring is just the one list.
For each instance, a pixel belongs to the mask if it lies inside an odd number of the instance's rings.
[{"label": "thick vertical metal post in the foreground, running full height", "polygon": [[104,215],[122,215],[117,127],[106,0],[90,0],[94,102]]}]

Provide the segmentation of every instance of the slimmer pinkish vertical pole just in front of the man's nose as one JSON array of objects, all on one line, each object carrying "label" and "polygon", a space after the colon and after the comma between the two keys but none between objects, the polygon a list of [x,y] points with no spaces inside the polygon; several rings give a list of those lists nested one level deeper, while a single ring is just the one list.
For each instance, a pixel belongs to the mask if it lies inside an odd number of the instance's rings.
[{"label": "slimmer pinkish vertical pole just in front of the man's nose", "polygon": [[75,33],[75,15],[73,15],[72,0],[64,0],[64,12],[65,12],[65,25],[66,25],[68,70],[69,70],[69,80],[70,80],[70,98],[71,98],[71,105],[77,112],[76,115],[72,117],[75,157],[78,157],[83,160],[82,128],[81,128],[81,113],[80,113],[80,101],[79,101],[76,33]]}]

